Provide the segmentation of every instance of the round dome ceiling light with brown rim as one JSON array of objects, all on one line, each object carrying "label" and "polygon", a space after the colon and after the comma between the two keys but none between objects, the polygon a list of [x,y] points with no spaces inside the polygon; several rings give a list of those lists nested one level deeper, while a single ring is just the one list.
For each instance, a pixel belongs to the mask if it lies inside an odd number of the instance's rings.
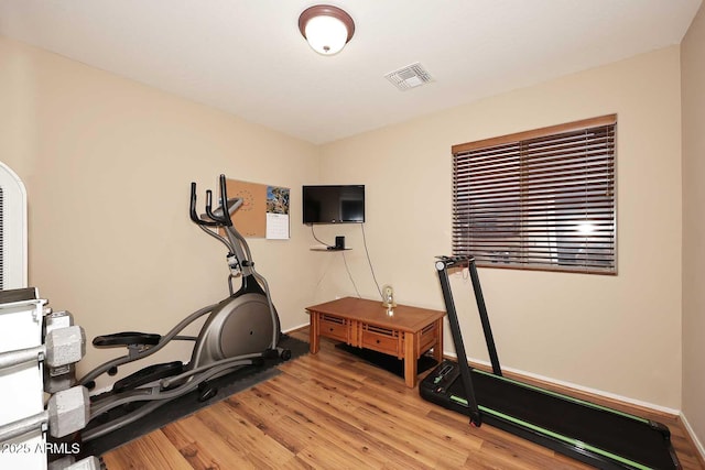
[{"label": "round dome ceiling light with brown rim", "polygon": [[317,4],[301,13],[299,30],[318,54],[333,55],[352,39],[355,22],[337,7]]}]

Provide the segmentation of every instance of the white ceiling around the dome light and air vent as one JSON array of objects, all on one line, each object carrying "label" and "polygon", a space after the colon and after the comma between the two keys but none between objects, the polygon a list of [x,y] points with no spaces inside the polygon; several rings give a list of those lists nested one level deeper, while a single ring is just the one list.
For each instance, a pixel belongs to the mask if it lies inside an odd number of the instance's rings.
[{"label": "white ceiling around the dome light and air vent", "polygon": [[[299,32],[311,0],[0,0],[0,35],[324,143],[677,44],[701,1],[332,0],[335,56]],[[433,83],[384,78],[415,62]]]}]

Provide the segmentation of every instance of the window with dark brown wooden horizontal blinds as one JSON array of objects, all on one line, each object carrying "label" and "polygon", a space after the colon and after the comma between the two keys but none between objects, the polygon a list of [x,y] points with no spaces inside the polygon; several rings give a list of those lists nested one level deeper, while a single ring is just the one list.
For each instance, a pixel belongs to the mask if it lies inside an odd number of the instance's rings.
[{"label": "window with dark brown wooden horizontal blinds", "polygon": [[453,146],[453,253],[616,274],[616,114]]}]

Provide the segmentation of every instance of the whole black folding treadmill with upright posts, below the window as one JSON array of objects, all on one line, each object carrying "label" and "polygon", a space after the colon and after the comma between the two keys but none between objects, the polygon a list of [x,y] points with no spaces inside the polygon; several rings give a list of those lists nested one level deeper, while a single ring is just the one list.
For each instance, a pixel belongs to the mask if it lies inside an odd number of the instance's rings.
[{"label": "whole black folding treadmill with upright posts, below the window", "polygon": [[681,469],[668,426],[502,375],[475,259],[440,256],[435,267],[458,358],[467,358],[448,270],[467,266],[492,372],[443,361],[419,384],[421,397],[600,469]]}]

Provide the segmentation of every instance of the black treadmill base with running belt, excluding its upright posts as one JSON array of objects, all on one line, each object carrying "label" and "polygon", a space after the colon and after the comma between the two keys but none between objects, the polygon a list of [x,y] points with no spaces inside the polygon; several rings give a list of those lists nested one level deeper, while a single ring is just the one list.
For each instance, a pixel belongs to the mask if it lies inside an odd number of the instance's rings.
[{"label": "black treadmill base with running belt, excluding its upright posts", "polygon": [[[453,372],[440,372],[447,364]],[[554,449],[572,457],[597,455],[625,468],[677,468],[668,428],[659,423],[475,369],[471,376],[480,412],[490,425],[524,428],[562,441],[567,446]],[[427,400],[467,408],[457,363],[444,362],[423,382],[420,389]]]}]

